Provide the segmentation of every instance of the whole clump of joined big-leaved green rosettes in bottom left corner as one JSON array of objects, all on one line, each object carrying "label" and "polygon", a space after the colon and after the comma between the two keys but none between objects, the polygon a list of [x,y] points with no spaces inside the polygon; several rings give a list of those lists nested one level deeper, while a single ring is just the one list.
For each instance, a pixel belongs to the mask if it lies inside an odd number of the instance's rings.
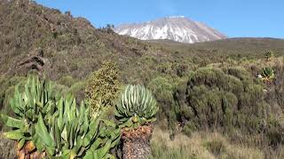
[{"label": "whole clump of joined big-leaved green rosettes in bottom left corner", "polygon": [[92,118],[84,102],[78,108],[73,95],[55,97],[51,84],[29,77],[25,90],[16,87],[10,102],[16,117],[1,114],[18,141],[19,157],[113,158],[109,149],[120,139],[114,122]]}]

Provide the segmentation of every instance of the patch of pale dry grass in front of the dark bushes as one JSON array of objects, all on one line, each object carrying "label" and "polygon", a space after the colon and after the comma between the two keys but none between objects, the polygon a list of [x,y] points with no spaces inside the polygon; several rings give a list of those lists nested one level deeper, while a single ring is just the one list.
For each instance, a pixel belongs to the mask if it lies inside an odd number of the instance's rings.
[{"label": "patch of pale dry grass in front of the dark bushes", "polygon": [[174,140],[170,134],[160,128],[154,128],[151,140],[153,158],[233,158],[233,159],[262,159],[264,153],[257,148],[244,145],[230,144],[220,133],[193,133],[187,137],[178,133]]}]

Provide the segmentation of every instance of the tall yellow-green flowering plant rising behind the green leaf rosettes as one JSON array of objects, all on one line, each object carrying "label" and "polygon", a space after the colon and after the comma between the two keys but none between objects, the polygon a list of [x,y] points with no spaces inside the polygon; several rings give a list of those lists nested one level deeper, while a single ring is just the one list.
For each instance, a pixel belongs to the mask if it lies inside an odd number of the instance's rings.
[{"label": "tall yellow-green flowering plant rising behind the green leaf rosettes", "polygon": [[113,104],[120,86],[118,78],[118,67],[112,61],[104,62],[101,68],[92,74],[86,87],[86,97],[94,116],[97,116],[96,113],[100,109]]}]

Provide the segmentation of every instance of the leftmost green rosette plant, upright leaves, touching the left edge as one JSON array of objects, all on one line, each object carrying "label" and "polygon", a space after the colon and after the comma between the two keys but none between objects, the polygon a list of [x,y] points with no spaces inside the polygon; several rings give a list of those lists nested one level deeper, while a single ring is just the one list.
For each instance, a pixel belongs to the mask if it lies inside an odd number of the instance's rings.
[{"label": "leftmost green rosette plant, upright leaves, touching the left edge", "polygon": [[[55,95],[51,92],[51,83],[45,80],[40,81],[35,76],[28,77],[23,92],[20,92],[19,85],[15,87],[10,106],[16,117],[12,118],[1,114],[1,118],[7,126],[13,127],[13,131],[4,133],[4,136],[18,141],[19,152],[22,150],[21,152],[29,153],[35,149],[31,140],[36,133],[37,114],[42,113],[45,117],[51,115],[50,110],[54,110]],[[23,148],[25,144],[28,147]]]}]

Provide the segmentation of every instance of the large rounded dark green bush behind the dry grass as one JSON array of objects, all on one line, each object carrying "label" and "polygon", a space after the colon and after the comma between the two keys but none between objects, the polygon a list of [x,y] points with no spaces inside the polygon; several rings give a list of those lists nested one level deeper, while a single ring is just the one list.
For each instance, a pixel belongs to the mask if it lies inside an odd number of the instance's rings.
[{"label": "large rounded dark green bush behind the dry grass", "polygon": [[185,130],[205,128],[242,133],[264,131],[268,105],[264,87],[241,68],[201,68],[177,88]]}]

